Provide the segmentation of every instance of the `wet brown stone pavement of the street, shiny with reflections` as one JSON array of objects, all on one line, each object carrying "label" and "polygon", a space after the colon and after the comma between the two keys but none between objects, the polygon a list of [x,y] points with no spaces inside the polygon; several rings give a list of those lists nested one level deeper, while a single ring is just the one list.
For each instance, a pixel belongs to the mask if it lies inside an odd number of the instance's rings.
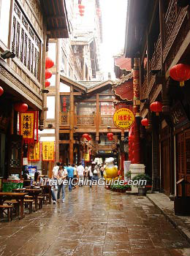
[{"label": "wet brown stone pavement of the street, shiny with reflections", "polygon": [[190,245],[148,198],[78,187],[65,203],[0,222],[5,255],[189,256]]}]

